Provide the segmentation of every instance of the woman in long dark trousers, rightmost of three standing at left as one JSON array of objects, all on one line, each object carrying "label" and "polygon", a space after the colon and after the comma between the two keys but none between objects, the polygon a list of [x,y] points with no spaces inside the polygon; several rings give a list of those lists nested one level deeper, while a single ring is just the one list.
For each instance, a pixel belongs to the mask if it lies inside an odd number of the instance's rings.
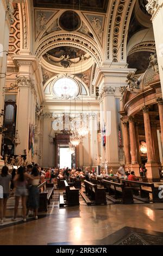
[{"label": "woman in long dark trousers, rightmost of three standing at left", "polygon": [[33,180],[32,186],[29,190],[29,208],[34,210],[34,218],[37,220],[37,212],[39,209],[39,188],[40,174],[36,167],[33,168],[31,173]]}]

